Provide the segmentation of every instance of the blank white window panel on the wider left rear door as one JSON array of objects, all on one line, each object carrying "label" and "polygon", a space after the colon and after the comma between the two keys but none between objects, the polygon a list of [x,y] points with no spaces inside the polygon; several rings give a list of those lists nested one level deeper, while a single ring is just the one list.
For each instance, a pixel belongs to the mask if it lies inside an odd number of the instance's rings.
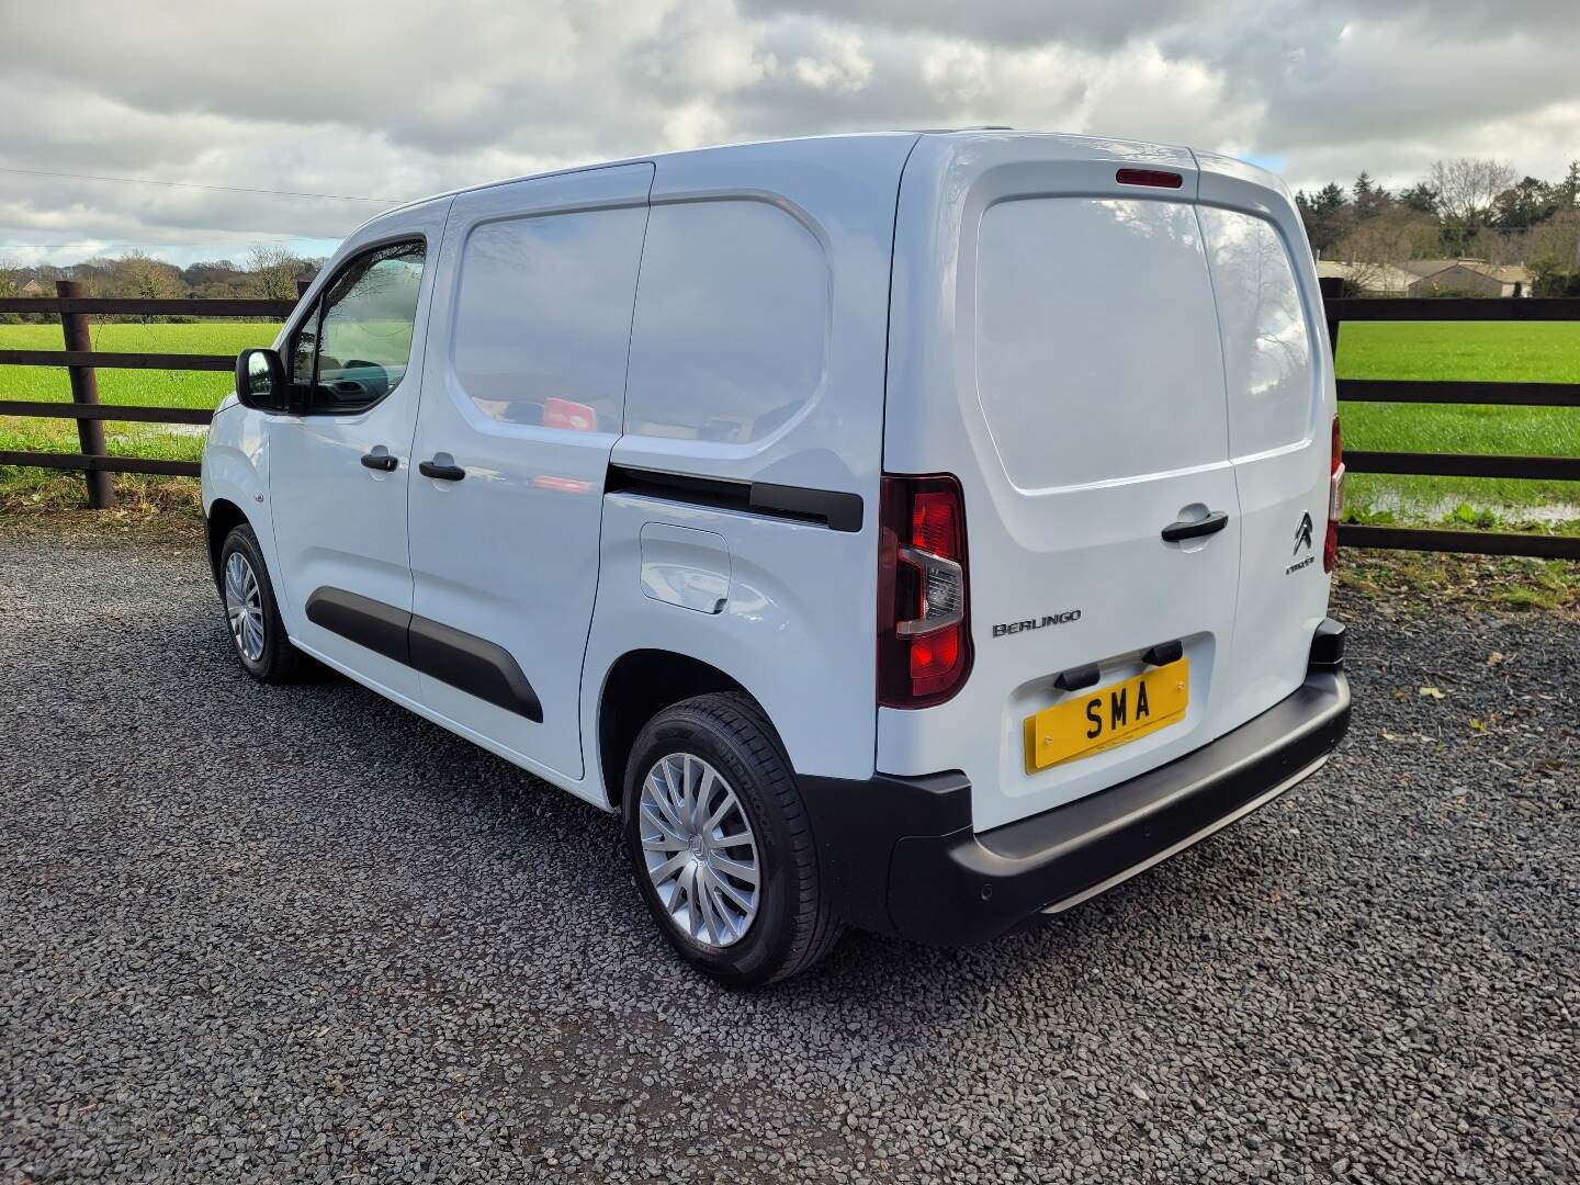
[{"label": "blank white window panel on the wider left rear door", "polygon": [[1196,212],[1006,201],[976,250],[976,393],[1021,488],[1228,457],[1223,357]]}]

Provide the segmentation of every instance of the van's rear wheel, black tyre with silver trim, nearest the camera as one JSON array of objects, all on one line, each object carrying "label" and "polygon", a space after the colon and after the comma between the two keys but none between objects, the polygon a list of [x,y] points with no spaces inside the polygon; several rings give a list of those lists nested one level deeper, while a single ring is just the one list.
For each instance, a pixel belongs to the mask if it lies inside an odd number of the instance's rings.
[{"label": "van's rear wheel, black tyre with silver trim, nearest the camera", "polygon": [[784,980],[839,940],[790,762],[744,695],[683,700],[637,735],[624,839],[665,937],[722,983]]}]

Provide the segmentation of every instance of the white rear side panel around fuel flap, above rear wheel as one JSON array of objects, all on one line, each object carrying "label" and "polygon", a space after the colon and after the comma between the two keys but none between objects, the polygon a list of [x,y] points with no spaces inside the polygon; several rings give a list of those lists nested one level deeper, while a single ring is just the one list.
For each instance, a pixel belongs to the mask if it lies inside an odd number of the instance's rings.
[{"label": "white rear side panel around fuel flap, above rear wheel", "polygon": [[[610,667],[657,648],[750,690],[799,773],[871,776],[890,261],[915,142],[882,134],[657,160],[611,465],[853,493],[863,520],[848,532],[605,496],[581,690],[588,769],[599,768],[592,722]],[[724,537],[722,613],[643,594],[648,523]]]}]

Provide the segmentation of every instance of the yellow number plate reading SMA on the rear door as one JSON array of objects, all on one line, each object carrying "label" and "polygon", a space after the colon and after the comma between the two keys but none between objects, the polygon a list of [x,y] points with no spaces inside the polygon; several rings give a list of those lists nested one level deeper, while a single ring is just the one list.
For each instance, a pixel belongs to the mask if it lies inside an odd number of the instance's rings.
[{"label": "yellow number plate reading SMA on the rear door", "polygon": [[1177,724],[1185,717],[1188,700],[1190,659],[1078,692],[1025,717],[1025,773],[1090,757]]}]

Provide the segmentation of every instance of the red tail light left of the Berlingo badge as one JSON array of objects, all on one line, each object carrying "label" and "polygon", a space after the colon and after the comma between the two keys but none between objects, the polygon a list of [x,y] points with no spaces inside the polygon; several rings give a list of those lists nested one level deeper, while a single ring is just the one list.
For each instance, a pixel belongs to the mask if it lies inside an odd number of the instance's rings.
[{"label": "red tail light left of the Berlingo badge", "polygon": [[927,708],[972,665],[965,501],[948,476],[885,477],[878,504],[878,703]]}]

